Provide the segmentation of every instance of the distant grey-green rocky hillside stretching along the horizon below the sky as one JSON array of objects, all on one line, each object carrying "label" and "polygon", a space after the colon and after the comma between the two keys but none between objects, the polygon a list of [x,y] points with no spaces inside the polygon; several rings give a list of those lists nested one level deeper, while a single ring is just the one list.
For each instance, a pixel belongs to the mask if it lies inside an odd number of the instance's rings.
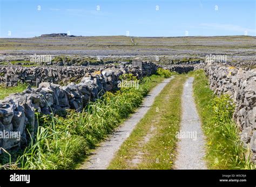
[{"label": "distant grey-green rocky hillside stretching along the horizon below the sky", "polygon": [[[133,40],[133,42],[132,42]],[[53,37],[0,38],[0,53],[87,54],[87,55],[154,55],[207,53],[255,54],[256,37]]]}]

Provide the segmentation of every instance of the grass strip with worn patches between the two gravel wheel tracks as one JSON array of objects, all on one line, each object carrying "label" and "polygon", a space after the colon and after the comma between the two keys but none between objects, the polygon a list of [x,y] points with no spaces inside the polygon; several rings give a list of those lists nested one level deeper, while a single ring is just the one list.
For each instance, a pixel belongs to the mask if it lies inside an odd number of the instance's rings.
[{"label": "grass strip with worn patches between the two gravel wheel tracks", "polygon": [[108,169],[171,169],[186,77],[177,75],[125,140]]}]

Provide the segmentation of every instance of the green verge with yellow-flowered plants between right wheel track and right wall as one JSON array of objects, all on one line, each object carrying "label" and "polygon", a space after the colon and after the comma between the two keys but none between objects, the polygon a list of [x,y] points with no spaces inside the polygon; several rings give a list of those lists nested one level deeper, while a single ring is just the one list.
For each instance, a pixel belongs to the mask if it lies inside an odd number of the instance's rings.
[{"label": "green verge with yellow-flowered plants between right wheel track and right wall", "polygon": [[207,137],[206,160],[210,169],[253,169],[248,149],[242,146],[239,129],[232,120],[234,104],[229,96],[214,96],[203,70],[194,76],[194,97]]}]

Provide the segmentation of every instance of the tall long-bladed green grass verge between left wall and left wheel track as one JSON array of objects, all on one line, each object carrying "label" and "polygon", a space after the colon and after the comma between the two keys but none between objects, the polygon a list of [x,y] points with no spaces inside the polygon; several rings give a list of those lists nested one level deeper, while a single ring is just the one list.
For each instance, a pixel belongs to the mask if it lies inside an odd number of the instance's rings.
[{"label": "tall long-bladed green grass verge between left wall and left wheel track", "polygon": [[138,89],[122,88],[115,93],[107,92],[103,98],[89,103],[82,113],[70,110],[65,118],[37,114],[39,127],[36,139],[15,163],[5,168],[75,169],[91,149],[129,117],[147,92],[163,80],[164,77],[158,75],[145,77]]}]

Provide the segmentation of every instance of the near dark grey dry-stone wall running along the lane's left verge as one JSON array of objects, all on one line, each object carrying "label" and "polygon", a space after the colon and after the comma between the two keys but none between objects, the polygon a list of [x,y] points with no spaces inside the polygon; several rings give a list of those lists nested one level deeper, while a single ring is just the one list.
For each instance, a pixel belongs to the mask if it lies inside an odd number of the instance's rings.
[{"label": "near dark grey dry-stone wall running along the lane's left verge", "polygon": [[[30,68],[29,68],[30,69]],[[58,114],[64,116],[67,109],[81,111],[89,101],[102,96],[106,91],[117,89],[119,76],[131,73],[142,77],[155,73],[157,66],[151,62],[143,62],[139,67],[112,67],[86,72],[80,83],[66,86],[42,82],[38,88],[28,88],[22,93],[15,93],[0,100],[0,132],[21,133],[21,139],[0,139],[0,148],[11,149],[27,145],[29,134],[36,133],[37,119],[35,112]]]}]

